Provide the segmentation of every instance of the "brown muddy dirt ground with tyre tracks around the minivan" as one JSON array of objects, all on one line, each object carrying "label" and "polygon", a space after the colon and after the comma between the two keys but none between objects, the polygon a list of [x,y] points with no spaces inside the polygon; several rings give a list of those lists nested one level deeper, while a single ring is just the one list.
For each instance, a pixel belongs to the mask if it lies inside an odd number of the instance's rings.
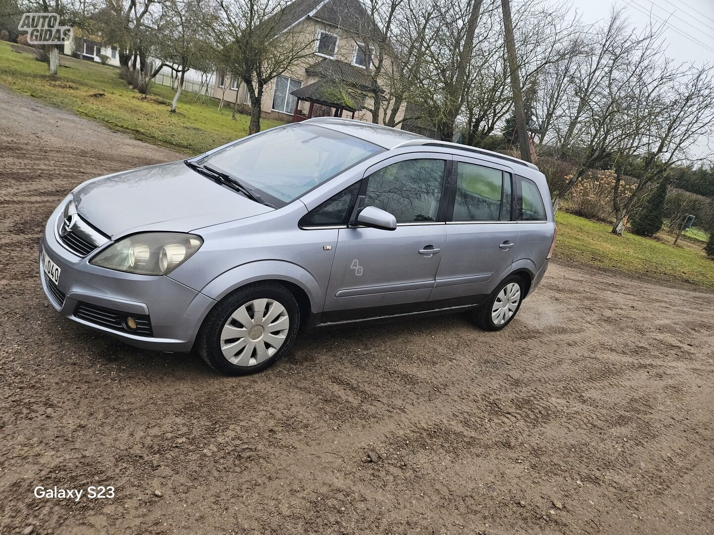
[{"label": "brown muddy dirt ground with tyre tracks around the minivan", "polygon": [[0,533],[714,531],[710,292],[554,263],[502,332],[315,333],[243,378],[57,315],[54,206],[178,157],[0,90]]}]

